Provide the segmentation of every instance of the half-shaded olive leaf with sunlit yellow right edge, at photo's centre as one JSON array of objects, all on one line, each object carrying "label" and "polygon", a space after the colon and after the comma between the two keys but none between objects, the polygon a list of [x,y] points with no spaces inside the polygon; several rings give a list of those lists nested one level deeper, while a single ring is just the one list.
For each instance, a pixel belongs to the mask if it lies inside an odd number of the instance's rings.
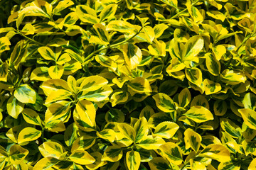
[{"label": "half-shaded olive leaf with sunlit yellow right edge, at photo's centre", "polygon": [[150,93],[152,91],[149,81],[143,77],[136,77],[130,80],[127,85],[129,88],[139,93]]}]

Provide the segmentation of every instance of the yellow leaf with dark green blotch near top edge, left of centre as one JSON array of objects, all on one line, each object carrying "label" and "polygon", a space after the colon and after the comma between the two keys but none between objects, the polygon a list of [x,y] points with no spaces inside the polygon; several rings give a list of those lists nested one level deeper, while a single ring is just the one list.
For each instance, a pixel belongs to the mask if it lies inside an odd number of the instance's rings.
[{"label": "yellow leaf with dark green blotch near top edge, left of centre", "polygon": [[78,18],[84,23],[100,23],[100,19],[97,18],[96,11],[89,6],[76,6],[76,13],[78,15]]}]

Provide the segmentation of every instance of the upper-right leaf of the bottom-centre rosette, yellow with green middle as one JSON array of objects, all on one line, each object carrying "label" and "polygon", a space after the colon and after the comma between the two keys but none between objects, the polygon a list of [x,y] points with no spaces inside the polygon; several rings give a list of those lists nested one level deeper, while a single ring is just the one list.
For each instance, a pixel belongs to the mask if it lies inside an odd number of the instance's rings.
[{"label": "upper-right leaf of the bottom-centre rosette, yellow with green middle", "polygon": [[170,139],[175,135],[179,126],[176,123],[172,122],[162,122],[156,126],[154,135],[166,139]]}]

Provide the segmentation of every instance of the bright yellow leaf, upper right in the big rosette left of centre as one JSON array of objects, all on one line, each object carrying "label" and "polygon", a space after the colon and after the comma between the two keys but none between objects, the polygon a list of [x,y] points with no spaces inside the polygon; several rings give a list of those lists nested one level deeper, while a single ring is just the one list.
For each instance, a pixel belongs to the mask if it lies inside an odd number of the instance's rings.
[{"label": "bright yellow leaf, upper right in the big rosette left of centre", "polygon": [[80,91],[96,91],[107,83],[107,79],[100,76],[86,77],[80,84]]}]

